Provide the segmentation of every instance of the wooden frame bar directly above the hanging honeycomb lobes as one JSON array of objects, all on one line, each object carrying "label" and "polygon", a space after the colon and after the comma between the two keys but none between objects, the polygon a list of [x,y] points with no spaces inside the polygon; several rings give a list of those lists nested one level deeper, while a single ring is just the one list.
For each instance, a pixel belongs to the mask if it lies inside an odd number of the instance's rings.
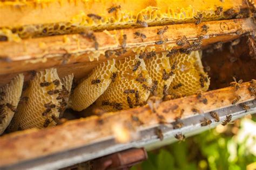
[{"label": "wooden frame bar directly above the hanging honeycomb lobes", "polygon": [[[202,32],[201,26],[209,26],[208,32]],[[98,63],[106,60],[105,51],[109,49],[120,49],[118,38],[122,34],[127,35],[126,53],[120,56],[112,56],[111,58],[123,59],[126,56],[136,54],[138,47],[142,50],[156,47],[156,52],[163,52],[167,49],[176,47],[176,41],[186,36],[190,42],[196,40],[199,35],[204,35],[203,47],[218,41],[230,41],[239,35],[235,32],[242,30],[248,32],[255,30],[255,25],[250,18],[221,20],[215,22],[204,22],[199,25],[195,24],[179,24],[169,25],[169,29],[161,37],[157,35],[157,30],[162,26],[146,27],[143,29],[123,29],[105,32],[96,32],[95,36],[99,43],[99,50],[94,48],[94,42],[87,38],[83,38],[79,34],[71,34],[66,36],[54,36],[45,38],[26,39],[22,42],[0,42],[0,56],[2,58],[0,64],[1,83],[9,82],[17,73],[26,72],[28,70],[40,70],[50,67],[56,67],[60,76],[65,76],[70,72],[75,77],[85,76],[90,70],[97,66]],[[142,32],[147,38],[142,40],[134,38],[134,32]],[[168,42],[164,45],[155,45],[154,43],[161,38],[168,38]],[[208,38],[208,39],[206,39]],[[179,48],[179,47],[177,47]],[[62,65],[63,57],[66,53],[72,54],[67,64]],[[93,58],[93,56],[95,58]],[[98,58],[96,58],[98,56]],[[5,59],[11,62],[5,61]],[[28,74],[25,74],[28,75]],[[25,76],[25,80],[28,76]]]}]

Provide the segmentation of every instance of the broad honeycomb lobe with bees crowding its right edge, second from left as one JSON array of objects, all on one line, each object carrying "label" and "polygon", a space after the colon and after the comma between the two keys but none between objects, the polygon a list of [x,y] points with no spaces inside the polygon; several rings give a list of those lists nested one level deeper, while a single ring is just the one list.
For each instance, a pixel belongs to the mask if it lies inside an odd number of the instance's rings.
[{"label": "broad honeycomb lobe with bees crowding its right edge, second from left", "polygon": [[[56,125],[51,116],[59,116],[60,101],[57,100],[59,94],[50,95],[49,91],[62,90],[62,84],[54,84],[53,81],[55,80],[60,81],[55,68],[36,73],[36,76],[30,80],[29,86],[22,93],[22,97],[28,97],[28,101],[18,104],[17,113],[9,125],[9,131],[41,129],[44,128],[46,119],[50,121],[48,126]],[[42,82],[50,82],[50,85],[41,87]],[[51,108],[51,111],[43,116],[42,113],[46,110],[45,104],[48,103],[54,104],[55,108]]]}]

